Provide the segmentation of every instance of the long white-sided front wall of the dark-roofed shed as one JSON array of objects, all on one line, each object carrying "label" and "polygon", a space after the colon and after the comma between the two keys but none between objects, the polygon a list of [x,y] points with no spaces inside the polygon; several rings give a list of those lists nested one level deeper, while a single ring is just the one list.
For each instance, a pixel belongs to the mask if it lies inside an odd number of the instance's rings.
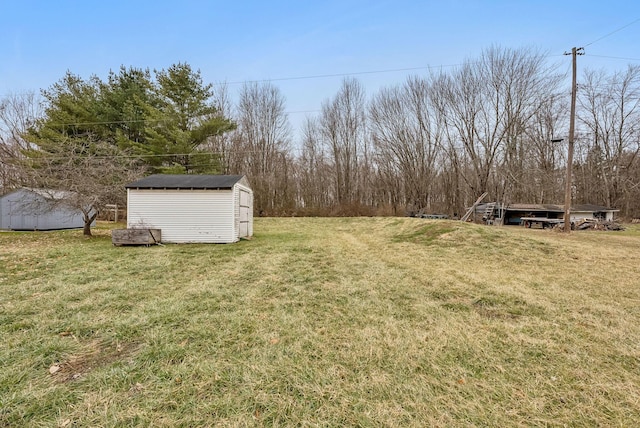
[{"label": "long white-sided front wall of the dark-roofed shed", "polygon": [[172,243],[238,240],[231,190],[129,189],[127,227],[162,230]]}]

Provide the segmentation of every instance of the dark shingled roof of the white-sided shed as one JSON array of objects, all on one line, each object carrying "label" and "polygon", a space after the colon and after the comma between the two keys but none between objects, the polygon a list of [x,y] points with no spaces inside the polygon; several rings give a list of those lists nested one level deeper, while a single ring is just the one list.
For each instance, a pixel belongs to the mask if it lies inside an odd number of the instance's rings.
[{"label": "dark shingled roof of the white-sided shed", "polygon": [[243,175],[156,174],[127,184],[127,189],[231,189]]}]

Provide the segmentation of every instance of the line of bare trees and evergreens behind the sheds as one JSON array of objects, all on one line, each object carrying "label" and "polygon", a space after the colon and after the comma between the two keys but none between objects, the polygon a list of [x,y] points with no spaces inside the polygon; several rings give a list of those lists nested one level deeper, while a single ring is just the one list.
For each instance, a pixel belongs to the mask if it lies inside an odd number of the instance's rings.
[{"label": "line of bare trees and evergreens behind the sheds", "polygon": [[[1,101],[0,186],[74,190],[91,215],[149,173],[246,174],[258,215],[456,216],[483,192],[561,203],[570,89],[559,68],[493,47],[370,95],[345,78],[295,139],[270,82],[232,96],[182,63],[105,80],[67,73],[43,103]],[[634,65],[582,73],[573,203],[640,217],[639,76]]]}]

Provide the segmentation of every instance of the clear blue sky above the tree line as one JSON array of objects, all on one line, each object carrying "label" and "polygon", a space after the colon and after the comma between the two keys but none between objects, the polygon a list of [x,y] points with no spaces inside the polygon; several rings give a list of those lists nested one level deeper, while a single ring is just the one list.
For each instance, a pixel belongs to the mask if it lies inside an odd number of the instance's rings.
[{"label": "clear blue sky above the tree line", "polygon": [[[373,94],[492,45],[539,49],[565,70],[562,54],[585,46],[579,67],[622,70],[640,64],[640,2],[0,0],[0,96],[47,88],[67,70],[105,77],[121,65],[187,62],[232,94],[246,80],[425,67],[354,75]],[[341,80],[274,84],[295,127]]]}]

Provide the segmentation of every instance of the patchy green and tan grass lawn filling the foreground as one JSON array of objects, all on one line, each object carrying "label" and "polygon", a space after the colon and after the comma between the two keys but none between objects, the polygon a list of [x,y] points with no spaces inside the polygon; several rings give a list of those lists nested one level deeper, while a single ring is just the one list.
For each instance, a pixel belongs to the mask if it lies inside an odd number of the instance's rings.
[{"label": "patchy green and tan grass lawn filling the foreground", "polygon": [[0,426],[640,426],[640,228],[0,233]]}]

